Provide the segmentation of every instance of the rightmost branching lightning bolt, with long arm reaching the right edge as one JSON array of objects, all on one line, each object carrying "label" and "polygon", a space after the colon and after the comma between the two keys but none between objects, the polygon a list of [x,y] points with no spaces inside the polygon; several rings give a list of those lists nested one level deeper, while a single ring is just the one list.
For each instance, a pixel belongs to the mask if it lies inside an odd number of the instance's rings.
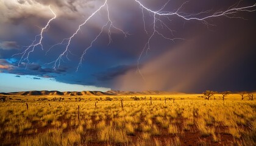
[{"label": "rightmost branching lightning bolt, with long arm reaching the right edge", "polygon": [[213,13],[213,15],[208,15],[208,16],[205,16],[205,17],[199,17],[203,13],[209,13],[210,10],[207,10],[205,12],[196,13],[196,14],[186,15],[185,13],[180,12],[180,9],[182,9],[183,5],[187,4],[188,1],[184,2],[175,12],[164,12],[164,11],[162,11],[163,9],[165,9],[166,5],[169,3],[170,0],[168,2],[166,2],[160,10],[157,10],[157,11],[149,9],[148,7],[144,6],[138,0],[134,0],[134,1],[137,2],[138,5],[140,5],[140,9],[141,9],[141,12],[142,12],[143,24],[144,24],[144,31],[147,34],[149,32],[146,30],[146,23],[145,23],[145,20],[144,20],[144,10],[146,10],[146,12],[153,15],[153,32],[151,33],[151,35],[149,35],[148,41],[146,42],[143,50],[141,51],[141,54],[140,54],[138,60],[137,60],[137,71],[140,73],[140,75],[143,77],[143,79],[144,79],[144,75],[142,74],[142,72],[140,70],[140,60],[141,60],[141,57],[144,54],[145,50],[146,50],[146,54],[148,54],[148,50],[150,49],[150,42],[151,42],[154,35],[160,35],[160,36],[162,36],[162,38],[170,40],[170,41],[183,40],[182,38],[168,38],[168,37],[164,36],[162,33],[158,32],[157,27],[156,27],[157,21],[160,21],[160,24],[162,24],[162,27],[166,27],[168,30],[170,30],[171,33],[173,31],[165,23],[163,23],[163,21],[161,21],[161,19],[160,19],[161,16],[163,16],[165,18],[168,18],[169,21],[170,21],[170,19],[169,19],[170,16],[178,16],[179,18],[182,18],[186,21],[190,21],[190,20],[201,21],[202,23],[207,24],[207,26],[208,26],[210,24],[207,22],[207,19],[216,18],[216,17],[220,17],[220,16],[226,16],[227,18],[241,18],[241,19],[243,19],[242,17],[236,16],[235,14],[238,13],[238,12],[255,12],[255,9],[252,9],[252,8],[256,7],[256,3],[254,5],[249,5],[247,7],[238,7],[238,5],[241,2],[241,1],[239,1],[238,3],[232,5],[231,7],[229,7],[229,9],[227,9],[225,11],[219,11],[219,12]]}]

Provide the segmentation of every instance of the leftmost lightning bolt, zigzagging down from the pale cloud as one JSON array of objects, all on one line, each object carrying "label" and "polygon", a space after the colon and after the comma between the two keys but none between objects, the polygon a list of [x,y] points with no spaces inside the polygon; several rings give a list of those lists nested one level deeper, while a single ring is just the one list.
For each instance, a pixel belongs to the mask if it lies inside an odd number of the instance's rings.
[{"label": "leftmost lightning bolt, zigzagging down from the pale cloud", "polygon": [[[20,65],[20,63],[21,63],[22,61],[25,61],[25,60],[27,60],[27,63],[29,63],[29,55],[30,55],[30,53],[34,52],[35,47],[41,46],[41,49],[43,50],[43,45],[42,45],[43,32],[50,26],[51,21],[54,20],[54,19],[57,17],[57,15],[56,15],[56,14],[54,13],[54,11],[51,9],[51,5],[49,5],[49,9],[51,10],[51,12],[52,12],[52,14],[54,15],[54,17],[52,17],[51,19],[49,19],[49,21],[48,21],[48,23],[46,24],[46,26],[44,26],[44,27],[41,29],[40,34],[35,36],[35,40],[32,41],[32,43],[31,43],[29,46],[26,46],[26,48],[25,48],[25,50],[24,50],[23,52],[21,52],[20,54],[14,54],[14,55],[12,55],[12,57],[15,56],[15,55],[21,55],[21,59],[20,59],[18,65]],[[38,40],[38,39],[37,39],[38,37],[39,37],[39,41],[38,41],[38,43],[36,43],[37,40]],[[27,63],[26,63],[26,64],[27,64]]]}]

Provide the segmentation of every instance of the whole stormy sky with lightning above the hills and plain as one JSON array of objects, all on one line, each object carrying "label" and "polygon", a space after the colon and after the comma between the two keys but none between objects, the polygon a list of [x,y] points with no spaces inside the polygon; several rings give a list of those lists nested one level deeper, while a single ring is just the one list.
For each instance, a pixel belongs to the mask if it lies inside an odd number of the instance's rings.
[{"label": "whole stormy sky with lightning above the hills and plain", "polygon": [[2,0],[0,92],[255,91],[244,0]]}]

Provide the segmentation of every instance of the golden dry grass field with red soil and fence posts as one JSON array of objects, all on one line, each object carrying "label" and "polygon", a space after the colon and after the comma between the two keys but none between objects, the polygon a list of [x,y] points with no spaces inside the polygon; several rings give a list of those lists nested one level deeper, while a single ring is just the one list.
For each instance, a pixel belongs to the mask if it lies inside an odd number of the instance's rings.
[{"label": "golden dry grass field with red soil and fence posts", "polygon": [[256,145],[255,100],[219,97],[10,96],[0,102],[0,143]]}]

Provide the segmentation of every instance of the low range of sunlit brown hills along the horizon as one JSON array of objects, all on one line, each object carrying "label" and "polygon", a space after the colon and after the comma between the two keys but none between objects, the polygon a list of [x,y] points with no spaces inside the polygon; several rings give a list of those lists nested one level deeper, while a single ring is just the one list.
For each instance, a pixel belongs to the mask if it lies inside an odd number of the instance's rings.
[{"label": "low range of sunlit brown hills along the horizon", "polygon": [[161,94],[184,94],[180,92],[166,92],[166,91],[142,91],[142,92],[132,92],[132,91],[23,91],[23,92],[1,92],[0,95],[13,95],[13,96],[132,96],[132,95],[161,95]]}]

